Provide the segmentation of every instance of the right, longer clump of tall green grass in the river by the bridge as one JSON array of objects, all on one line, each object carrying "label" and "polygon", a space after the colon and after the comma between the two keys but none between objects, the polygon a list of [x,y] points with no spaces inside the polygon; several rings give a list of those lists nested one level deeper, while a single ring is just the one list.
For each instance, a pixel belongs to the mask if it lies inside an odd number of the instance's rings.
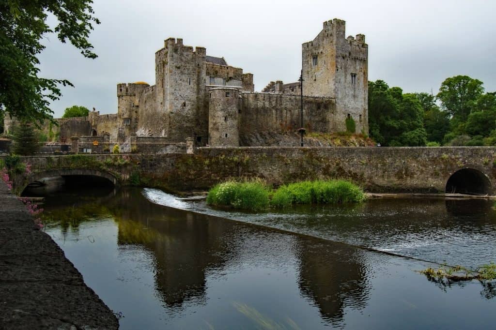
[{"label": "right, longer clump of tall green grass in the river by the bridge", "polygon": [[270,204],[283,208],[292,204],[339,204],[363,202],[362,188],[346,180],[316,180],[290,183],[279,187]]}]

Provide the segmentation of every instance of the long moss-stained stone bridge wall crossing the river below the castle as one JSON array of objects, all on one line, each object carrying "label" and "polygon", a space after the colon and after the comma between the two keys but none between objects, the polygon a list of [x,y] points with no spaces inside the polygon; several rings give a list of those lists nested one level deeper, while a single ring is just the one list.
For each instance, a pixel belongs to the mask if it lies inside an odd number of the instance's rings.
[{"label": "long moss-stained stone bridge wall crossing the river below the castle", "polygon": [[495,147],[225,147],[198,148],[194,154],[24,157],[21,162],[9,169],[16,193],[55,175],[93,175],[116,185],[172,192],[208,189],[230,177],[260,177],[275,185],[346,178],[370,192],[493,194],[496,183]]}]

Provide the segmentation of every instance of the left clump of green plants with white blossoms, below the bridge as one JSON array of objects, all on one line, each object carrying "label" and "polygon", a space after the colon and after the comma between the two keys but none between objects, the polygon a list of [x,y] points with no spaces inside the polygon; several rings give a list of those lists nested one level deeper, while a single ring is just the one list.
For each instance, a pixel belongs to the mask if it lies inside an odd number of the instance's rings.
[{"label": "left clump of green plants with white blossoms, below the bridge", "polygon": [[269,204],[269,189],[261,181],[227,181],[215,185],[207,195],[207,204],[232,206],[236,209],[258,211]]}]

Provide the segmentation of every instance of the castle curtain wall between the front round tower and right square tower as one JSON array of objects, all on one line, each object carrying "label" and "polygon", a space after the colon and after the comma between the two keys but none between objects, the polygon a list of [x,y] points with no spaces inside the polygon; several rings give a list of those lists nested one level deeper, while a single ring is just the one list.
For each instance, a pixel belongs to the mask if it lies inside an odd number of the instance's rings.
[{"label": "castle curtain wall between the front round tower and right square tower", "polygon": [[[303,121],[308,132],[329,132],[335,102],[331,98],[303,97]],[[301,97],[270,93],[242,93],[239,116],[241,140],[259,132],[296,132],[301,127]]]}]

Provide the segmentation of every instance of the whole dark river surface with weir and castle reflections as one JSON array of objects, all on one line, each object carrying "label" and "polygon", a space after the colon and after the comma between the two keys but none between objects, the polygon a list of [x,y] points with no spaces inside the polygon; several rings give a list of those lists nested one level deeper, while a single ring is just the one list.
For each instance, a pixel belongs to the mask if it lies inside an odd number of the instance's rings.
[{"label": "whole dark river surface with weir and castle reflections", "polygon": [[[496,283],[418,271],[496,261],[492,202],[213,210],[157,189],[53,193],[45,230],[121,329],[492,329]],[[377,251],[374,251],[377,250]],[[394,253],[395,256],[388,253]]]}]

